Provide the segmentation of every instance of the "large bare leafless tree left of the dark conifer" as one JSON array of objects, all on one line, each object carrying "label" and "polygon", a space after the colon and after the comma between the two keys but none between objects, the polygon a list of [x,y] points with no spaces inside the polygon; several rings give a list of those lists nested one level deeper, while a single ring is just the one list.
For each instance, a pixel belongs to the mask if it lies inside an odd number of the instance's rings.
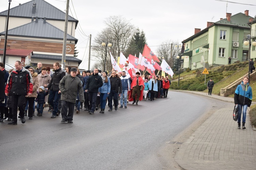
[{"label": "large bare leafless tree left of the dark conifer", "polygon": [[104,24],[106,28],[96,35],[93,41],[92,50],[94,60],[97,60],[100,63],[100,68],[103,70],[105,47],[103,47],[101,43],[102,41],[106,43],[107,40],[112,43],[112,47],[107,48],[106,57],[106,71],[111,71],[112,64],[109,51],[111,51],[115,60],[117,60],[121,51],[125,53],[134,33],[134,26],[122,16],[110,16],[109,18],[106,18]]}]

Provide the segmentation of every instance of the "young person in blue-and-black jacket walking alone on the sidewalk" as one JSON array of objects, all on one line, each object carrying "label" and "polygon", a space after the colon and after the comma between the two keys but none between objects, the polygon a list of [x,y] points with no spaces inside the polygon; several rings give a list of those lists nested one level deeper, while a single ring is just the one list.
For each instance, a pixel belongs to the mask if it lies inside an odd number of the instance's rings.
[{"label": "young person in blue-and-black jacket walking alone on the sidewalk", "polygon": [[241,84],[237,86],[237,89],[234,93],[234,103],[238,105],[238,129],[241,129],[241,114],[243,107],[243,120],[242,120],[242,129],[245,128],[245,119],[246,119],[246,110],[247,107],[251,106],[253,92],[251,86],[249,86],[249,78],[248,76],[244,76]]}]

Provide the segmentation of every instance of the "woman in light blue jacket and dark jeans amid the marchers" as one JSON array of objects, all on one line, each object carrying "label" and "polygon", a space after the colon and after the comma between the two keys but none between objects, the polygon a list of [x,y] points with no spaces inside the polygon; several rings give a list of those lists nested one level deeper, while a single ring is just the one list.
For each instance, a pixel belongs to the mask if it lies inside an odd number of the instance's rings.
[{"label": "woman in light blue jacket and dark jeans amid the marchers", "polygon": [[109,77],[107,76],[108,72],[103,72],[102,73],[102,81],[103,81],[103,86],[99,88],[99,93],[100,93],[100,113],[105,112],[105,106],[106,106],[106,97],[110,93],[110,80]]}]

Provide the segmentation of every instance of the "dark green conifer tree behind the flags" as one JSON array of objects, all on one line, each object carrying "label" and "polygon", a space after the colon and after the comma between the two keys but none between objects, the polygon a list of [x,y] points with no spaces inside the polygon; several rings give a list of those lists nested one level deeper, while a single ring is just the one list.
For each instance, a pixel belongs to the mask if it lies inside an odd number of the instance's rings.
[{"label": "dark green conifer tree behind the flags", "polygon": [[136,54],[136,56],[138,57],[139,53],[143,52],[145,44],[147,44],[145,33],[143,31],[140,32],[140,29],[137,28],[136,32],[131,38],[129,47],[124,55],[129,56],[129,54],[131,54],[134,56]]}]

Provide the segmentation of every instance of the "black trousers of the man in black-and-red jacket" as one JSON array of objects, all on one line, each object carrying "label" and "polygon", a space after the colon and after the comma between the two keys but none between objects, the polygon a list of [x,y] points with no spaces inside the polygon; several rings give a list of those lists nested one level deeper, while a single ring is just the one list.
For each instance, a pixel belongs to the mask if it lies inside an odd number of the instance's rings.
[{"label": "black trousers of the man in black-and-red jacket", "polygon": [[12,115],[13,115],[13,121],[14,122],[17,122],[18,108],[19,108],[20,117],[21,118],[24,117],[25,107],[26,107],[25,102],[26,102],[25,95],[12,94]]}]

